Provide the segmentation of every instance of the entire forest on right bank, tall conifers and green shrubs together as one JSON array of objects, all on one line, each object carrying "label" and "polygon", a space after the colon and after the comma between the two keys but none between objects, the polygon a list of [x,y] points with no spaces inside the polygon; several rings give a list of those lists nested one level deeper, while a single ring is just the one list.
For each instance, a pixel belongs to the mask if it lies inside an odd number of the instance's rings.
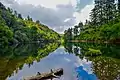
[{"label": "entire forest on right bank, tall conifers and green shrubs together", "polygon": [[64,32],[65,41],[120,42],[120,0],[95,0],[90,20]]}]

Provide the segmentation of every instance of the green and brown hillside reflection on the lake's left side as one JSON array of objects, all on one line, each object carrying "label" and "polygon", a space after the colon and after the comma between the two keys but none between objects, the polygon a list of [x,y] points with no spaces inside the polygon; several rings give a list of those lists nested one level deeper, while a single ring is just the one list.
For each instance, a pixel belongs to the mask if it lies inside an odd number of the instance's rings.
[{"label": "green and brown hillside reflection on the lake's left side", "polygon": [[58,43],[0,46],[0,80],[16,74],[24,64],[30,67],[33,61],[39,62],[58,47]]}]

